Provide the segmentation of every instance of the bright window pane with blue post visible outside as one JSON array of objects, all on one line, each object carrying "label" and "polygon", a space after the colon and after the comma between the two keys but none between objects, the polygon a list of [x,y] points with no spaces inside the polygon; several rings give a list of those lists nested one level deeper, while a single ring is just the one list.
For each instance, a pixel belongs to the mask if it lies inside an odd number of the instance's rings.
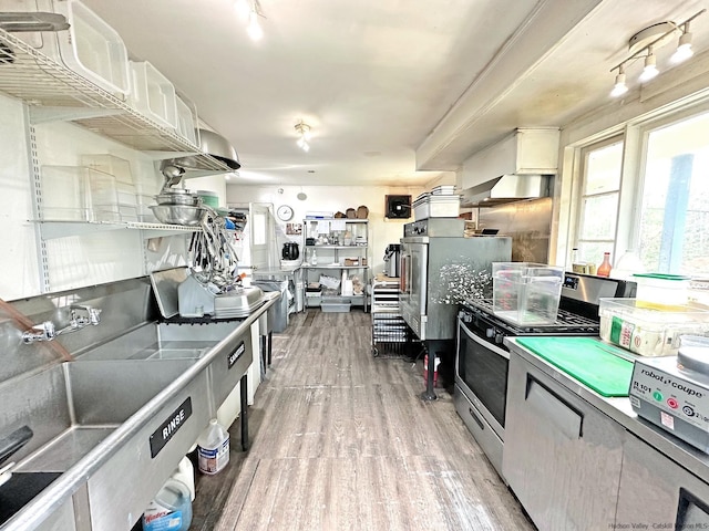
[{"label": "bright window pane with blue post visible outside", "polygon": [[709,113],[651,129],[639,256],[648,271],[709,271]]}]

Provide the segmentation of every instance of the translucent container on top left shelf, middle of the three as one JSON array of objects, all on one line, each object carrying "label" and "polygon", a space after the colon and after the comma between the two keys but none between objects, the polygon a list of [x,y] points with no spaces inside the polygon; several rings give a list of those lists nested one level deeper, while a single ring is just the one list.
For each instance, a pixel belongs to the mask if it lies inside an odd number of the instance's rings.
[{"label": "translucent container on top left shelf, middle of the three", "polygon": [[147,61],[130,62],[131,95],[129,103],[156,124],[177,127],[175,86]]}]

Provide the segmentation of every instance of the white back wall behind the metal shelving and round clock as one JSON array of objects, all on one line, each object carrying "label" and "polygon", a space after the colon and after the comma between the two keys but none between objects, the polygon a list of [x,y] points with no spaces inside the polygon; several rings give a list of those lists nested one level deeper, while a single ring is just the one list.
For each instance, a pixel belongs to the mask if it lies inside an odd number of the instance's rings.
[{"label": "white back wall behind the metal shelving and round clock", "polygon": [[[282,190],[282,194],[279,192]],[[403,236],[403,225],[410,219],[384,218],[387,195],[410,195],[414,200],[424,192],[423,187],[386,187],[386,186],[243,186],[229,184],[227,200],[229,205],[248,202],[268,202],[274,211],[281,206],[292,207],[295,215],[291,222],[302,222],[307,211],[345,212],[348,208],[357,209],[363,205],[369,209],[370,244],[369,259],[374,274],[384,267],[384,249],[389,243],[399,243]],[[307,199],[299,200],[298,194]],[[285,227],[285,222],[279,222]],[[284,229],[285,230],[285,229]],[[280,252],[280,249],[278,249]],[[300,249],[302,253],[302,248]]]}]

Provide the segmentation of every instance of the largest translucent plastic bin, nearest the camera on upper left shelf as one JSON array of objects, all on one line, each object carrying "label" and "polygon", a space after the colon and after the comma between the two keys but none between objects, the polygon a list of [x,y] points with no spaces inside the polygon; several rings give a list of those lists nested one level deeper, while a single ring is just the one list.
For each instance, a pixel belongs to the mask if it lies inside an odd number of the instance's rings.
[{"label": "largest translucent plastic bin, nearest the camera on upper left shelf", "polygon": [[121,35],[79,0],[0,0],[0,11],[63,14],[68,30],[18,33],[29,45],[94,85],[125,100],[129,54]]}]

